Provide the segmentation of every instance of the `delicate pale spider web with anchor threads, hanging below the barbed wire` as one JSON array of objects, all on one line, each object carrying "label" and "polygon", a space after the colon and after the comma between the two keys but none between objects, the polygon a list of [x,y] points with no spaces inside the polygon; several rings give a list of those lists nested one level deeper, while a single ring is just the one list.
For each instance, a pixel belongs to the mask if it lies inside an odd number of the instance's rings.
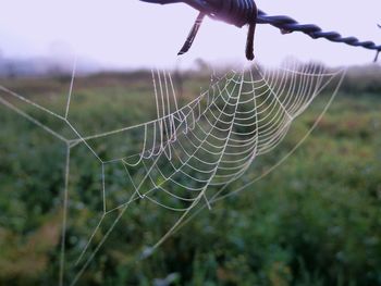
[{"label": "delicate pale spider web with anchor threads, hanging below the barbed wire", "polygon": [[[343,77],[344,71],[328,72],[317,64],[298,65],[293,63],[290,67],[267,71],[254,65],[241,72],[226,73],[212,82],[207,91],[201,92],[193,101],[180,108],[170,73],[152,71],[157,119],[86,137],[81,135],[70,120],[75,64],[64,115],[0,86],[0,90],[8,97],[13,97],[53,116],[76,135],[74,139],[64,137],[19,109],[11,100],[0,94],[2,104],[66,145],[60,285],[64,284],[70,160],[71,150],[74,147],[85,146],[99,161],[102,181],[102,210],[96,228],[88,237],[86,246],[76,260],[75,266],[79,270],[70,285],[75,285],[78,282],[83,272],[133,202],[149,200],[161,208],[182,214],[173,227],[155,246],[143,252],[142,257],[145,258],[186,223],[185,217],[196,206],[204,203],[210,209],[213,202],[230,196],[231,194],[222,195],[223,190],[232,182],[239,178],[258,156],[273,150],[287,134],[292,122],[329,85],[334,85],[329,102],[332,101]],[[110,137],[118,136],[121,138],[134,136],[134,146],[128,146],[121,152],[116,149],[115,152],[112,152],[112,158],[102,158],[97,151],[97,144],[106,142]],[[273,169],[286,157],[280,159]],[[108,206],[105,170],[114,164],[123,165],[125,176],[131,182],[130,187],[134,191],[130,199],[122,203]],[[270,169],[269,172],[273,169]],[[135,172],[136,170],[139,172]],[[249,184],[233,190],[232,194],[236,194]],[[219,189],[219,191],[208,194],[209,189]],[[90,248],[96,233],[111,213],[118,214],[111,227],[100,243]]]}]

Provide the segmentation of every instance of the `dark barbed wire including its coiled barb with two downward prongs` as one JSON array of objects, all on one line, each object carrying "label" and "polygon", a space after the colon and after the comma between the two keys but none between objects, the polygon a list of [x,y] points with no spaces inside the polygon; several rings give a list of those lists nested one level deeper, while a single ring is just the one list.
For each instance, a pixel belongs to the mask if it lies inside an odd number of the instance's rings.
[{"label": "dark barbed wire including its coiled barb with two downward prongs", "polygon": [[[376,45],[373,41],[361,41],[356,37],[344,37],[337,32],[324,32],[321,27],[315,24],[300,24],[296,20],[286,15],[268,15],[261,10],[257,10],[254,0],[140,0],[157,4],[171,4],[183,2],[200,12],[197,17],[187,40],[185,41],[179,54],[184,54],[190,49],[190,46],[196,38],[198,29],[201,25],[205,15],[211,18],[223,21],[228,24],[243,27],[249,26],[246,58],[254,60],[254,34],[256,24],[269,24],[281,30],[282,34],[300,32],[311,37],[312,39],[324,38],[332,42],[346,43],[353,47],[361,47],[377,52],[374,62],[378,60],[381,51],[381,45]],[[381,26],[379,25],[381,28]]]}]

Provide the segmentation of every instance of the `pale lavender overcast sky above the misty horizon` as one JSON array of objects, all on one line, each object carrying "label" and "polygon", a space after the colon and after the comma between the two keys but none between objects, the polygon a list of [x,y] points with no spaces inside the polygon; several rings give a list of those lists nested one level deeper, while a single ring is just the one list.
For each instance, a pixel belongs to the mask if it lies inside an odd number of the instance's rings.
[{"label": "pale lavender overcast sky above the misty horizon", "polygon": [[[327,30],[381,42],[381,0],[258,0],[269,14],[286,14]],[[77,54],[105,67],[152,67],[201,58],[222,64],[245,61],[246,29],[207,20],[189,53],[179,58],[197,12],[185,4],[155,5],[138,0],[0,0],[2,57],[71,59]],[[370,63],[374,52],[302,34],[281,35],[260,25],[256,57],[278,64],[287,57],[330,65]]]}]

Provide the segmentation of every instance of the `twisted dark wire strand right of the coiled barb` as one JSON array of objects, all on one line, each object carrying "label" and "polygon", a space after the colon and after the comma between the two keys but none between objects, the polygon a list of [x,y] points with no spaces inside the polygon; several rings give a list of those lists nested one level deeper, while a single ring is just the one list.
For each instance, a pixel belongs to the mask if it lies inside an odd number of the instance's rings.
[{"label": "twisted dark wire strand right of the coiled barb", "polygon": [[[257,17],[258,24],[270,24],[279,29],[282,33],[292,33],[292,32],[302,32],[312,39],[324,38],[333,42],[343,42],[353,47],[361,47],[369,50],[374,50],[379,54],[381,51],[381,45],[376,45],[373,41],[360,41],[356,37],[343,37],[337,32],[323,32],[318,25],[315,24],[300,24],[296,20],[285,16],[285,15],[275,15],[270,16],[263,11],[258,11]],[[376,57],[374,61],[377,61]]]}]

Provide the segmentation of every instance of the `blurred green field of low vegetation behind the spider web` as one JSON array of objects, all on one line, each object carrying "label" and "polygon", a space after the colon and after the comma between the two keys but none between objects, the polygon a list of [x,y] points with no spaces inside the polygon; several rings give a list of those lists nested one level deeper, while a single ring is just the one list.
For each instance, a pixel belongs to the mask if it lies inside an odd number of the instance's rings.
[{"label": "blurred green field of low vegetation behind the spider web", "polygon": [[[179,213],[147,201],[134,204],[77,285],[381,285],[381,73],[374,71],[348,74],[317,129],[274,172],[200,211],[143,260],[142,250]],[[64,112],[69,77],[0,84]],[[208,78],[189,74],[181,100],[207,85]],[[85,135],[144,122],[155,117],[151,90],[145,72],[77,78],[70,119]],[[42,112],[4,92],[0,97],[70,136]],[[276,163],[328,100],[321,95],[276,150],[258,158],[229,190]],[[0,285],[57,285],[65,146],[2,104],[0,123]],[[73,158],[69,264],[97,225],[101,208],[99,165],[85,148],[74,148]],[[113,178],[108,199],[123,201],[132,191],[124,189],[124,176],[118,170],[108,175]],[[67,272],[69,279],[76,274],[71,265]]]}]

